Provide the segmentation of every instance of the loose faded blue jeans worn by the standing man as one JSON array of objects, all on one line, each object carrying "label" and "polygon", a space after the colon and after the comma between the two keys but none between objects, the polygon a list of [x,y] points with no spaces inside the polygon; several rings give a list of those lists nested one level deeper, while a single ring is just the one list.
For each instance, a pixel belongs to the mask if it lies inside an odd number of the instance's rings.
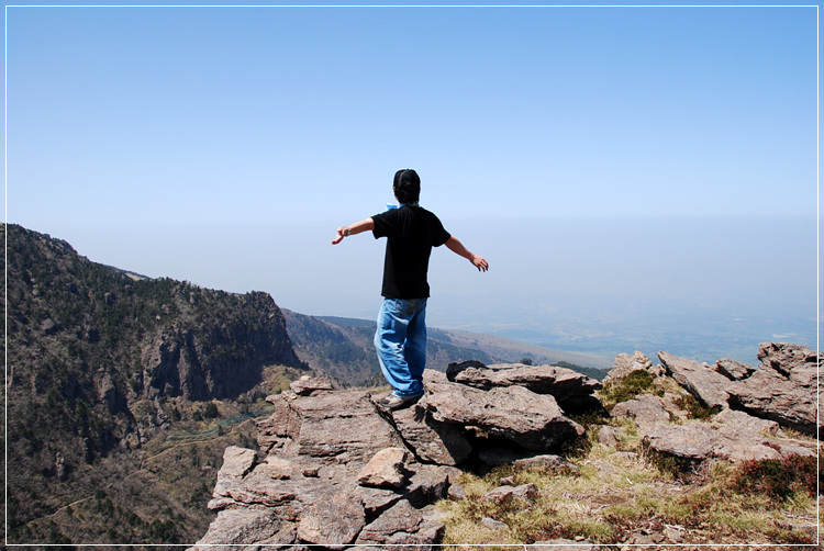
[{"label": "loose faded blue jeans worn by the standing man", "polygon": [[401,397],[423,394],[426,299],[383,299],[375,333],[380,370]]}]

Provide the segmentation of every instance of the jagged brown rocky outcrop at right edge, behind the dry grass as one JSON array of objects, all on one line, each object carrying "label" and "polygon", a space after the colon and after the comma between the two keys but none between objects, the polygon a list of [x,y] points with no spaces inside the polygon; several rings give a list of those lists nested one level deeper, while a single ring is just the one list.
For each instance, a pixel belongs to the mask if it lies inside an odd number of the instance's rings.
[{"label": "jagged brown rocky outcrop at right edge, behind the dry grass", "polygon": [[[683,401],[672,395],[642,394],[616,404],[611,414],[636,421],[645,449],[679,458],[687,464],[708,459],[744,461],[815,454],[815,447],[809,441],[780,430],[788,427],[816,434],[820,358],[814,351],[794,345],[764,344],[759,347],[758,369],[728,359],[710,367],[667,352],[659,352],[658,357],[662,372],[708,408],[709,419],[689,419],[689,414],[677,405]],[[650,371],[643,361],[636,360],[628,368],[626,358],[616,360],[608,380],[617,381],[636,368]],[[608,430],[603,440],[614,439],[612,435]]]}]

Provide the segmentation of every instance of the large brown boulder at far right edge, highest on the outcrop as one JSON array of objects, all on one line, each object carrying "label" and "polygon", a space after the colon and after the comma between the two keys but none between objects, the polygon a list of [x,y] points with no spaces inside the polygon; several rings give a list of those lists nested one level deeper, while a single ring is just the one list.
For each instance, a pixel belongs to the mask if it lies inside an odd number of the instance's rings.
[{"label": "large brown boulder at far right edge, highest on the outcrop", "polygon": [[731,404],[757,417],[816,435],[817,366],[821,356],[797,345],[762,344],[759,369],[727,387]]}]

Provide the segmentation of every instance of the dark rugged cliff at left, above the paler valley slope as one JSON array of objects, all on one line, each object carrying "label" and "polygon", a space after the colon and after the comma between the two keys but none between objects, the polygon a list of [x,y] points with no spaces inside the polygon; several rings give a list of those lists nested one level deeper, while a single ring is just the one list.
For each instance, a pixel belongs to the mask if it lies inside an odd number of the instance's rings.
[{"label": "dark rugged cliff at left, above the paler valley slope", "polygon": [[305,369],[266,293],[141,278],[47,235],[2,232],[12,532],[54,510],[85,466],[192,421],[207,401],[254,403],[275,366]]}]

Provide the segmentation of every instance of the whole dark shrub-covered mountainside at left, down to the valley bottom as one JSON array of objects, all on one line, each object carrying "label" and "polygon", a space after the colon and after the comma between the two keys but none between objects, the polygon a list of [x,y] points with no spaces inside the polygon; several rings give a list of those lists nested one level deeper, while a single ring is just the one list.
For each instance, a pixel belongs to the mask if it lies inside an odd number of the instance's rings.
[{"label": "whole dark shrub-covered mountainside at left, down to the valley bottom", "polygon": [[[213,487],[223,449],[305,370],[280,310],[265,293],[141,279],[49,236],[2,232],[9,541],[194,541],[212,515],[200,488]],[[207,447],[198,462],[211,466],[160,492],[169,470],[145,465],[179,446],[170,435],[197,435],[183,440]]]}]

